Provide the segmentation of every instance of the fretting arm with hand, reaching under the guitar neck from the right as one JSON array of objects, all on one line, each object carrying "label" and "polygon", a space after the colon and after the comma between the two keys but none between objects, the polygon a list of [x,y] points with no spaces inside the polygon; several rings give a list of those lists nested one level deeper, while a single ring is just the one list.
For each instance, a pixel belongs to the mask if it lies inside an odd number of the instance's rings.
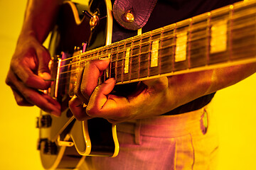
[{"label": "fretting arm with hand, reaching under the guitar neck from the right", "polygon": [[[200,96],[231,86],[256,72],[256,64],[252,63],[162,77],[142,81],[134,94],[121,97],[110,94],[114,79],[97,86],[97,78],[94,78],[107,68],[108,62],[100,60],[87,63],[80,72],[76,90],[78,97],[70,101],[70,109],[78,120],[85,120],[89,115],[117,123],[161,115]],[[87,101],[87,108],[83,108],[80,103]]]}]

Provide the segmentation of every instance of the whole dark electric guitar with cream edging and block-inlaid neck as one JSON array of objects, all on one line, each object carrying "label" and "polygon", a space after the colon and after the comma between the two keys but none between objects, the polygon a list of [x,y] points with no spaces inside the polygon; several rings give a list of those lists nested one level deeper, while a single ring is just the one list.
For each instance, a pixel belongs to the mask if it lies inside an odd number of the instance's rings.
[{"label": "whole dark electric guitar with cream edging and block-inlaid neck", "polygon": [[102,81],[114,77],[117,85],[256,62],[256,1],[241,1],[114,43],[111,1],[95,0],[85,9],[65,1],[52,34],[53,83],[46,93],[61,103],[62,114],[55,118],[41,111],[38,118],[45,169],[75,169],[87,155],[116,157],[119,152],[115,125],[102,118],[75,120],[68,108],[85,62],[110,58]]}]

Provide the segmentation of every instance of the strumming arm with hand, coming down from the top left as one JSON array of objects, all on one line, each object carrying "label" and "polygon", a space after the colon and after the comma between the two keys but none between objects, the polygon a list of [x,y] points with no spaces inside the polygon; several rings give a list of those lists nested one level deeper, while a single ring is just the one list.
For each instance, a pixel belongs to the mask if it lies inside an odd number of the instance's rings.
[{"label": "strumming arm with hand, coming down from the top left", "polygon": [[50,55],[42,43],[53,28],[60,0],[29,0],[21,34],[6,77],[20,106],[36,105],[44,111],[60,115],[60,104],[41,93],[50,86]]}]

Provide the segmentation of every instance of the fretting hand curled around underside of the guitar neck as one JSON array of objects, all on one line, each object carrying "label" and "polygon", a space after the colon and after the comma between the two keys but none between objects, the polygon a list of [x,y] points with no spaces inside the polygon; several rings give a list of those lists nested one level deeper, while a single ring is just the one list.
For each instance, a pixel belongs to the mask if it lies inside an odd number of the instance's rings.
[{"label": "fretting hand curled around underside of the guitar neck", "polygon": [[[110,94],[114,79],[98,85],[98,78],[107,69],[109,60],[94,60],[80,70],[75,97],[70,101],[70,110],[78,120],[100,117],[111,123],[147,118],[166,113],[169,107],[163,102],[170,97],[167,77],[139,82],[136,91],[128,96]],[[83,108],[82,103],[87,107]]]}]

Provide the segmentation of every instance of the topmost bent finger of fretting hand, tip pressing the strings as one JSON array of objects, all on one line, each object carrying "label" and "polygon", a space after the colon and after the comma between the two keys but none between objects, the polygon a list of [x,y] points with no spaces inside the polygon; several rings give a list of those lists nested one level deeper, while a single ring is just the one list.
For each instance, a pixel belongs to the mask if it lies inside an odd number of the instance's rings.
[{"label": "topmost bent finger of fretting hand, tip pressing the strings", "polygon": [[94,91],[95,87],[98,85],[100,75],[102,75],[103,71],[107,69],[109,64],[109,59],[93,60],[92,62],[87,62],[85,64],[85,70],[83,72],[81,82],[81,93],[88,101],[92,91]]}]

